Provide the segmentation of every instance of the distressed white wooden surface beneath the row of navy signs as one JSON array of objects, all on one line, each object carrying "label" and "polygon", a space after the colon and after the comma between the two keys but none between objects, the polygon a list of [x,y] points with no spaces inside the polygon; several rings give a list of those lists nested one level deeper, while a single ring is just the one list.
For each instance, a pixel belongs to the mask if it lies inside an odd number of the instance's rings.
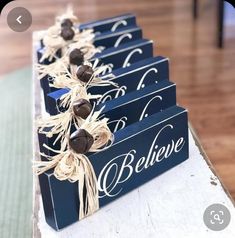
[{"label": "distressed white wooden surface beneath the row of navy signs", "polygon": [[[35,78],[35,76],[34,76]],[[34,82],[35,116],[40,108],[40,86]],[[235,208],[220,181],[200,154],[189,133],[190,158],[138,189],[103,207],[94,215],[60,232],[44,219],[41,196],[34,187],[34,233],[36,238],[234,238]],[[38,156],[37,136],[34,152]],[[209,230],[203,223],[206,207],[222,203],[231,212],[223,231]]]}]

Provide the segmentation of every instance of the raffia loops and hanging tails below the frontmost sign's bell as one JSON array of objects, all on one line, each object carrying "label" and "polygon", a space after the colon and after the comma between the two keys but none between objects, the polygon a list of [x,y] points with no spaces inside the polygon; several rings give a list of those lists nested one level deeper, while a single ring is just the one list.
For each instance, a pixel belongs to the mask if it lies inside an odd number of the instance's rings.
[{"label": "raffia loops and hanging tails below the frontmost sign's bell", "polygon": [[[89,159],[83,154],[76,154],[72,150],[62,152],[51,161],[35,161],[33,165],[37,175],[54,169],[54,176],[58,180],[69,180],[78,183],[79,220],[93,214],[99,209],[98,186],[95,171]],[[85,197],[84,188],[86,190]]]}]

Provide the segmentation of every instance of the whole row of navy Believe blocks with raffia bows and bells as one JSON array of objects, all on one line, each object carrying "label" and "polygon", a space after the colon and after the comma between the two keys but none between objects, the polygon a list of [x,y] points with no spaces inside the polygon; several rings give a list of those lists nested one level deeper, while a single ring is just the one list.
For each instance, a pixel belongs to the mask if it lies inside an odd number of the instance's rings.
[{"label": "whole row of navy Believe blocks with raffia bows and bells", "polygon": [[188,158],[187,110],[177,105],[169,60],[153,55],[134,15],[80,24],[68,9],[35,51],[47,113],[36,122],[41,160],[33,167],[52,228]]}]

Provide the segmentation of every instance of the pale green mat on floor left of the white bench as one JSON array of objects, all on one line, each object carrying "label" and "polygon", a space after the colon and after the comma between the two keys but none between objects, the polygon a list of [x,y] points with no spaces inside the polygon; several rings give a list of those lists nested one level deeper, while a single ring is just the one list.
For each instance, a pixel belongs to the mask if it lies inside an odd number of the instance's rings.
[{"label": "pale green mat on floor left of the white bench", "polygon": [[32,235],[32,79],[24,68],[0,78],[0,237]]}]

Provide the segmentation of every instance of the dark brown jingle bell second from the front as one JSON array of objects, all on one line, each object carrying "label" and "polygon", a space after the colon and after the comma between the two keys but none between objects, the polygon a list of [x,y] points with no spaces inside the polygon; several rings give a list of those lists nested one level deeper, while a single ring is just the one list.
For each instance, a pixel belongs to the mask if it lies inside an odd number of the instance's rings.
[{"label": "dark brown jingle bell second from the front", "polygon": [[78,99],[73,103],[73,112],[76,116],[86,119],[92,111],[92,105],[86,99]]}]

